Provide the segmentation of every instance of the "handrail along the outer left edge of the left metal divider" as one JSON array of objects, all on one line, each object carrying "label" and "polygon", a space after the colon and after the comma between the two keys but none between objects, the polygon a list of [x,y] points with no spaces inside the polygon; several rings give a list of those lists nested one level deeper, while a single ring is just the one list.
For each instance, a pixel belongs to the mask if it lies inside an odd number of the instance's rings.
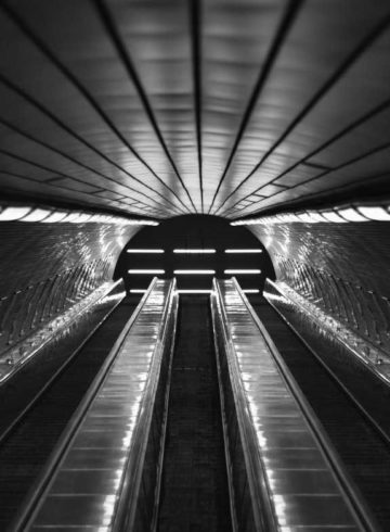
[{"label": "handrail along the outer left edge of the left metal divider", "polygon": [[82,423],[89,407],[91,406],[93,400],[95,398],[99,390],[104,383],[106,376],[109,372],[118,353],[120,352],[120,347],[123,344],[127,335],[130,332],[134,321],[141,314],[151,292],[155,288],[157,283],[157,277],[154,277],[148,286],[146,292],[138,304],[135,311],[132,313],[128,322],[126,324],[123,330],[119,334],[116,340],[114,346],[112,347],[107,358],[105,359],[103,366],[101,367],[99,373],[93,379],[87,394],[81,400],[77,409],[69,419],[64,433],[55,445],[53,452],[51,453],[43,470],[39,474],[39,478],[34,483],[32,487],[29,490],[28,495],[26,496],[25,504],[16,516],[15,520],[12,523],[10,530],[13,532],[22,532],[29,530],[29,527],[32,524],[35,517],[38,514],[41,503],[44,501],[44,497],[50,489],[51,481],[55,476],[57,468],[60,467],[67,448],[72,444],[78,428]]}]

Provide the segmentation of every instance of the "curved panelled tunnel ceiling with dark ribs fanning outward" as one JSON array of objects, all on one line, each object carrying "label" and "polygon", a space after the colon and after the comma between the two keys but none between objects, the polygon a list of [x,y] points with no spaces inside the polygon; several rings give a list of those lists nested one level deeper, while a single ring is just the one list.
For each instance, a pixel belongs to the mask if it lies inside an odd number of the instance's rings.
[{"label": "curved panelled tunnel ceiling with dark ribs fanning outward", "polygon": [[388,0],[0,5],[0,190],[229,218],[380,190]]}]

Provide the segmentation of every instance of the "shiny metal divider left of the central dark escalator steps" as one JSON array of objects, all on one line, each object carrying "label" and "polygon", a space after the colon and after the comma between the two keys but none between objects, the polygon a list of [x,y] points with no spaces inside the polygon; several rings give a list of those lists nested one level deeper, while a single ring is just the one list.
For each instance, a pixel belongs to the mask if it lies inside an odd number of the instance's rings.
[{"label": "shiny metal divider left of the central dark escalator steps", "polygon": [[152,283],[22,530],[131,530],[173,299]]}]

